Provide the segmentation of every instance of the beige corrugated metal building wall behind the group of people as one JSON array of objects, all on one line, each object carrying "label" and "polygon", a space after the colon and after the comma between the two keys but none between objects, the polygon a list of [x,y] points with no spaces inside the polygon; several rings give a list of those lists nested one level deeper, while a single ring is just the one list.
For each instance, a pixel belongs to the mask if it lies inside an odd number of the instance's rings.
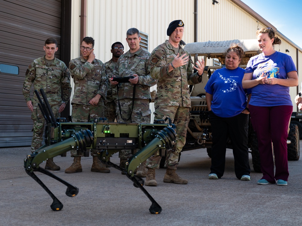
[{"label": "beige corrugated metal building wall behind the group of people", "polygon": [[[220,0],[219,5],[211,0],[198,0],[198,42],[233,39],[256,39],[261,27],[273,27],[239,0]],[[81,0],[72,1],[72,58],[79,57],[79,27]],[[260,18],[261,17],[261,18]],[[95,39],[96,58],[103,62],[111,59],[111,45],[122,42],[125,50],[126,32],[131,27],[147,33],[152,50],[168,39],[166,30],[172,20],[181,19],[185,24],[183,40],[194,42],[194,0],[87,0],[87,36]],[[276,28],[273,27],[276,31]],[[291,55],[297,66],[297,46],[282,34],[275,49]],[[299,49],[299,68],[302,71],[302,50]],[[207,60],[212,65],[213,60]],[[302,79],[299,78],[299,84]],[[291,87],[294,102],[297,90]],[[295,109],[295,108],[294,108]]]}]

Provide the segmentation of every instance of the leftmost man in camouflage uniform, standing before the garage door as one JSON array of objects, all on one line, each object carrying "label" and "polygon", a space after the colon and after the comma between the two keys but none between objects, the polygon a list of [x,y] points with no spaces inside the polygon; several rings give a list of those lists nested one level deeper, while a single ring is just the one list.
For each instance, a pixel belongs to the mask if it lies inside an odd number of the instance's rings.
[{"label": "leftmost man in camouflage uniform, standing before the garage door", "polygon": [[[43,89],[53,114],[59,117],[64,110],[71,95],[69,71],[63,61],[54,57],[58,50],[56,39],[48,38],[43,47],[45,55],[35,59],[29,66],[25,74],[23,84],[23,95],[28,108],[31,110],[31,119],[34,120],[33,139],[31,142],[31,152],[40,148],[43,141],[43,130],[45,119],[40,108],[38,108],[38,98],[34,93],[31,98],[31,85],[40,93]],[[63,99],[62,99],[63,94]],[[46,161],[45,169],[59,170],[60,167],[53,163],[53,158]]]}]

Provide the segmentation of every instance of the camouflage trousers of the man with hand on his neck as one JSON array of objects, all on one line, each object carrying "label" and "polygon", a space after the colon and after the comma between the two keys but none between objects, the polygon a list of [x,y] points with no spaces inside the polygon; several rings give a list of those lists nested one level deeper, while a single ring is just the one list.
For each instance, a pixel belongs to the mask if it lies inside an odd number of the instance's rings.
[{"label": "camouflage trousers of the man with hand on his neck", "polygon": [[[104,106],[101,105],[80,105],[72,104],[72,122],[88,122],[88,118],[102,118],[104,117]],[[90,149],[91,156],[98,156],[97,149]],[[71,157],[84,156],[78,155],[77,150],[71,150]]]}]

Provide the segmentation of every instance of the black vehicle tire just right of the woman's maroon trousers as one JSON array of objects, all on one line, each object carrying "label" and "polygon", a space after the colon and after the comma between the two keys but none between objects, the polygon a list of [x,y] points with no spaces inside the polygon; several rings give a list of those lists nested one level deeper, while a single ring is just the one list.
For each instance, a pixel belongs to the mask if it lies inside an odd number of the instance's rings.
[{"label": "black vehicle tire just right of the woman's maroon trousers", "polygon": [[300,158],[300,139],[297,124],[289,124],[288,140],[291,143],[287,145],[287,159],[297,161]]}]

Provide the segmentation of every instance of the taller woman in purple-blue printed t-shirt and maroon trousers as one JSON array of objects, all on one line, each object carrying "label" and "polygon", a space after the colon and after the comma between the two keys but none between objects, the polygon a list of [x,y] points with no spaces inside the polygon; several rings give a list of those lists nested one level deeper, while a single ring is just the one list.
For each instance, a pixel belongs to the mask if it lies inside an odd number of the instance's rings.
[{"label": "taller woman in purple-blue printed t-shirt and maroon trousers", "polygon": [[[288,124],[293,111],[289,87],[298,85],[297,69],[291,57],[274,50],[281,40],[272,28],[257,31],[261,54],[250,58],[242,85],[252,89],[251,121],[257,133],[261,171],[258,184],[287,185]],[[275,175],[272,145],[275,154]]]}]

